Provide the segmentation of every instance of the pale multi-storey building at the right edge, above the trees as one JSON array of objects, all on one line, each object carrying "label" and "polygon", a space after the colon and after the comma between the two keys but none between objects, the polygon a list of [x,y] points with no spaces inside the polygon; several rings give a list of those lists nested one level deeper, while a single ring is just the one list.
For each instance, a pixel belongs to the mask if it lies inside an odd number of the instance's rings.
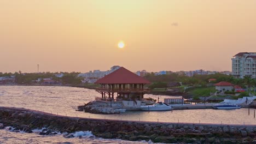
[{"label": "pale multi-storey building at the right edge, above the trees", "polygon": [[232,75],[236,78],[256,78],[256,52],[240,52],[232,58]]}]

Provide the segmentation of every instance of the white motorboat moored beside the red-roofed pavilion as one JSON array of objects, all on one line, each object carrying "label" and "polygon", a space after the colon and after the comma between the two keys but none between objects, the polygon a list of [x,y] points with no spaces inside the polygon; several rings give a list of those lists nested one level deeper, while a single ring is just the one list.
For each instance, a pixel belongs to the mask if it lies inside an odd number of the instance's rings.
[{"label": "white motorboat moored beside the red-roofed pavilion", "polygon": [[169,111],[172,110],[172,107],[165,103],[158,102],[153,105],[140,106],[139,109],[143,111]]}]

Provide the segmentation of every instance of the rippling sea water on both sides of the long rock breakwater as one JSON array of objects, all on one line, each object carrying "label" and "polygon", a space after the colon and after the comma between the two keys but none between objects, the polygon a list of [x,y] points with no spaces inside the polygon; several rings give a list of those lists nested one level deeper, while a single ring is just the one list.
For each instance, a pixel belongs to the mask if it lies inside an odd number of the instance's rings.
[{"label": "rippling sea water on both sides of the long rock breakwater", "polygon": [[[209,123],[209,124],[256,124],[254,109],[235,110],[173,110],[173,111],[126,111],[121,114],[101,115],[85,113],[77,110],[101,97],[94,89],[65,86],[0,86],[0,106],[21,107],[62,116],[119,119],[129,121],[177,122],[177,123]],[[145,94],[144,97],[164,101],[173,98],[168,95]],[[248,115],[251,113],[251,115]],[[34,133],[13,132],[9,128],[0,130],[0,143],[152,143],[151,141],[124,141],[117,139],[101,139],[92,135],[91,131],[77,131],[74,138],[65,138],[63,134],[54,136]]]}]

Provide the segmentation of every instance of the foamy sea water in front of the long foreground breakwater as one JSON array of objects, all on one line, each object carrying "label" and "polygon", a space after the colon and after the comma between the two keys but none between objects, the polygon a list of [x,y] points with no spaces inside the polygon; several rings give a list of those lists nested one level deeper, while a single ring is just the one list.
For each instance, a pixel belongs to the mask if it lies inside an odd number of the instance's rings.
[{"label": "foamy sea water in front of the long foreground breakwater", "polygon": [[86,143],[86,144],[100,144],[100,143],[109,143],[109,144],[132,144],[132,143],[152,143],[151,141],[124,141],[118,139],[101,139],[95,137],[91,134],[90,131],[77,131],[73,133],[75,137],[73,138],[65,138],[63,134],[57,134],[52,136],[43,136],[39,135],[40,130],[33,130],[34,133],[24,133],[13,132],[11,130],[6,129],[0,130],[0,143],[14,144],[14,143],[22,143],[22,144],[44,144],[44,143],[59,143],[59,144],[71,144],[71,143]]}]

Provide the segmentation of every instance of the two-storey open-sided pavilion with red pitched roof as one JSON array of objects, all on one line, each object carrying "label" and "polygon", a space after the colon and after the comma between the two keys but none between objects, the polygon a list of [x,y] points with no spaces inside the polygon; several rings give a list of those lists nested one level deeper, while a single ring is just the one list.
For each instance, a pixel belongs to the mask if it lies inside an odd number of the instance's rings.
[{"label": "two-storey open-sided pavilion with red pitched roof", "polygon": [[[96,100],[121,101],[142,100],[143,95],[149,92],[149,89],[144,86],[150,82],[121,67],[95,83],[101,85],[100,88],[96,88],[96,91],[101,94],[101,98],[96,98]],[[115,99],[114,93],[117,93]]]}]

